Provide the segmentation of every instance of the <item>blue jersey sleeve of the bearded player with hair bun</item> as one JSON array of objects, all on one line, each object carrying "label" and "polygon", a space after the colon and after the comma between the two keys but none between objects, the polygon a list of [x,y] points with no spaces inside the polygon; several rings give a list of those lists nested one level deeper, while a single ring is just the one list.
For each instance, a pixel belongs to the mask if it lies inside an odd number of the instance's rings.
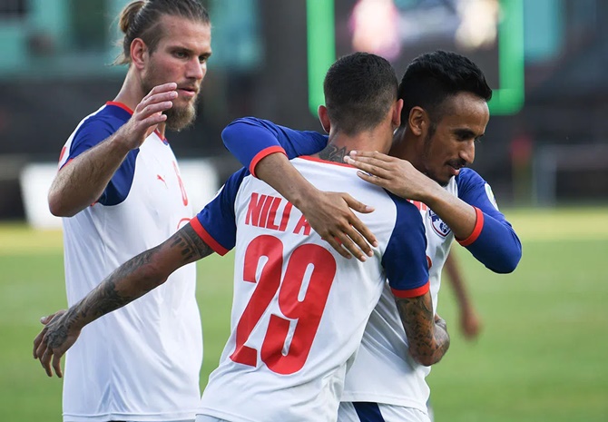
[{"label": "blue jersey sleeve of the bearded player with hair bun", "polygon": [[[104,119],[89,118],[74,133],[70,151],[60,162],[60,169],[64,168],[77,156],[105,141],[116,132],[118,128]],[[103,190],[97,202],[103,205],[117,205],[123,202],[131,191],[133,176],[135,174],[135,161],[139,149],[129,152],[120,167],[114,172],[112,179]]]}]

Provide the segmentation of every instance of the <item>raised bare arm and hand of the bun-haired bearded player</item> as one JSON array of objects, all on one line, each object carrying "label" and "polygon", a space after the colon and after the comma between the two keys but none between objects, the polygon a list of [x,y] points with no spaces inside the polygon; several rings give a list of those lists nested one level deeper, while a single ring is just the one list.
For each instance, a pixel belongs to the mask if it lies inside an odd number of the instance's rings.
[{"label": "raised bare arm and hand of the bun-haired bearded player", "polygon": [[[162,112],[172,107],[176,87],[175,83],[165,83],[152,88],[131,119],[116,132],[101,130],[93,134],[84,128],[83,136],[101,136],[104,140],[87,139],[77,145],[85,151],[71,152],[74,158],[60,169],[49,191],[49,209],[54,215],[72,217],[102,196],[127,154],[139,148],[156,126],[166,120]],[[89,143],[94,146],[89,148]]]}]

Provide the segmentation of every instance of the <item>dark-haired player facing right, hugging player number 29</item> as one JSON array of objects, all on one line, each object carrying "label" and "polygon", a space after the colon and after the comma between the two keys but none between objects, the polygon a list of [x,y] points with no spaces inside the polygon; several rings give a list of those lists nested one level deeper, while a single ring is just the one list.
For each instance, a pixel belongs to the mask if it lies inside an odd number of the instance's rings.
[{"label": "dark-haired player facing right, hugging player number 29", "polygon": [[[498,211],[490,186],[466,168],[475,158],[475,142],[484,135],[491,95],[484,74],[466,57],[441,51],[423,54],[407,67],[399,85],[404,108],[392,156],[350,152],[346,157],[346,162],[362,170],[358,175],[363,180],[416,204],[426,227],[434,311],[441,270],[455,238],[495,272],[515,270],[521,258],[521,243]],[[322,150],[327,140],[310,132],[286,138],[281,135],[284,131],[267,121],[246,118],[231,123],[222,138],[250,172],[294,204],[304,204],[309,220],[323,216],[327,228],[338,205],[319,201],[319,192],[285,156]],[[336,220],[339,227],[340,219]],[[351,234],[348,237],[353,239]],[[430,368],[409,357],[413,339],[401,328],[393,302],[385,289],[368,321],[348,372],[341,421],[428,421],[425,378]]]}]

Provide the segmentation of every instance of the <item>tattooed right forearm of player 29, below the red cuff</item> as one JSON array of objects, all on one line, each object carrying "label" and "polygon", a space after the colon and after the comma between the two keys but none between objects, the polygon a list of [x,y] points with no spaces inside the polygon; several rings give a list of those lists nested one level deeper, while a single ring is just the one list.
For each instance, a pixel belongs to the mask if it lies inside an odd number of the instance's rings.
[{"label": "tattooed right forearm of player 29, below the red cuff", "polygon": [[429,367],[446,354],[450,346],[446,321],[433,315],[430,291],[417,298],[395,298],[406,329],[409,353],[418,363]]}]

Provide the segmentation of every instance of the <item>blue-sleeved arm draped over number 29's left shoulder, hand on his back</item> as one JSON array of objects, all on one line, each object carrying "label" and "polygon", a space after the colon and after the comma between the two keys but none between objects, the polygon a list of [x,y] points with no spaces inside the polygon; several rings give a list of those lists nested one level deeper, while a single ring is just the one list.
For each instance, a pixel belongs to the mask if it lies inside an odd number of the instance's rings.
[{"label": "blue-sleeved arm draped over number 29's left shoulder, hand on his back", "polygon": [[267,182],[291,202],[313,230],[345,258],[371,256],[376,246],[373,233],[354,211],[373,209],[348,193],[319,191],[291,165],[289,158],[322,150],[327,137],[300,132],[260,119],[244,118],[230,123],[221,134],[226,147],[251,174]]}]

